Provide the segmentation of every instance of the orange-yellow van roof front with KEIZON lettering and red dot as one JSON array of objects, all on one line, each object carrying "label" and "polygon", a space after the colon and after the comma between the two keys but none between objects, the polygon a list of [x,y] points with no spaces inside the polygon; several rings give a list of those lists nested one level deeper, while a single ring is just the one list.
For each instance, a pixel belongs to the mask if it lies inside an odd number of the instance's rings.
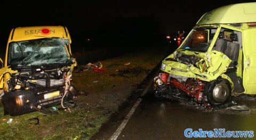
[{"label": "orange-yellow van roof front with KEIZON lettering and red dot", "polygon": [[67,38],[71,43],[68,29],[63,26],[34,26],[13,28],[10,33],[8,42],[18,42],[22,40],[46,37]]}]

